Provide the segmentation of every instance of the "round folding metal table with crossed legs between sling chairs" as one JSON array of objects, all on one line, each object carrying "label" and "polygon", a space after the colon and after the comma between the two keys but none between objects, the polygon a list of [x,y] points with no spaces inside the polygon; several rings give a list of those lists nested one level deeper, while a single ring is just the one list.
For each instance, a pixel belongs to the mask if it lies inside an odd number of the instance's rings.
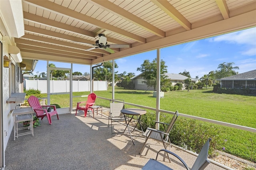
[{"label": "round folding metal table with crossed legs between sling chairs", "polygon": [[[131,119],[128,121],[128,123],[126,124],[126,128],[128,128],[130,137],[131,137],[131,139],[132,139],[131,133],[135,130],[135,128],[137,127],[138,123],[140,124],[140,118],[141,118],[141,116],[142,116],[142,115],[145,115],[145,114],[147,113],[147,111],[145,111],[144,109],[129,108],[129,109],[122,109],[122,110],[121,110],[121,113],[123,113],[123,114],[126,115],[126,116],[132,115],[132,118],[131,118]],[[126,116],[124,116],[125,121],[126,121]],[[130,122],[132,121],[132,119],[133,119],[134,116],[137,116],[137,123],[136,123],[134,129],[133,129],[132,132],[131,132],[131,131],[130,131],[129,124],[130,124]],[[140,127],[141,127],[141,125],[140,125]],[[125,132],[126,128],[124,129],[124,132]],[[141,128],[141,130],[142,130],[142,128]],[[124,134],[124,132],[123,132],[123,134]],[[143,130],[142,130],[142,133],[144,133]],[[132,139],[132,143],[134,144],[133,139]],[[135,144],[134,144],[134,145],[135,145]]]}]

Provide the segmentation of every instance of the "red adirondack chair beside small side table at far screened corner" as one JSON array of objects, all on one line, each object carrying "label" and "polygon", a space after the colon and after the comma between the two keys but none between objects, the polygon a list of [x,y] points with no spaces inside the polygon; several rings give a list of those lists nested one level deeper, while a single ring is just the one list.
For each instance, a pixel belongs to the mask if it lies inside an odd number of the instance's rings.
[{"label": "red adirondack chair beside small side table at far screened corner", "polygon": [[[97,98],[96,94],[91,93],[90,95],[88,95],[87,101],[78,102],[76,105],[76,113],[77,113],[77,110],[84,111],[84,117],[86,117],[88,110],[89,111],[91,110],[93,112],[93,109],[90,109],[89,107],[95,104],[96,98]],[[82,103],[86,103],[86,104],[83,105]]]}]

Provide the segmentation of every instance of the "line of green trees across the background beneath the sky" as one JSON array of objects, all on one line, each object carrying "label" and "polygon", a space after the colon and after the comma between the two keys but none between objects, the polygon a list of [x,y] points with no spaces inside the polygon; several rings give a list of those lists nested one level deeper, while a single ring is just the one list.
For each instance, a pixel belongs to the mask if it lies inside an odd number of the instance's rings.
[{"label": "line of green trees across the background beneath the sky", "polygon": [[[184,85],[186,89],[193,89],[194,88],[202,88],[202,87],[208,87],[212,84],[217,83],[216,79],[221,79],[223,77],[229,77],[231,75],[236,75],[238,74],[238,71],[235,71],[239,69],[239,67],[235,66],[233,67],[234,62],[231,63],[221,63],[218,65],[217,69],[214,71],[210,71],[208,74],[203,75],[202,77],[196,76],[195,78],[199,78],[200,82],[194,85],[191,81],[191,75],[189,71],[184,70],[182,73],[179,73],[181,75],[184,75],[188,77],[188,79],[184,80]],[[56,67],[53,63],[49,63],[49,67]],[[94,73],[94,80],[99,80],[99,81],[108,81],[112,82],[112,61],[106,61],[104,62],[104,65],[99,66],[94,68],[93,73]],[[168,72],[167,70],[167,65],[165,64],[165,61],[161,59],[160,61],[160,86],[161,88],[166,91],[166,89],[172,88],[170,85],[170,80],[168,76],[166,76],[166,73]],[[114,68],[118,68],[117,63],[114,64]],[[149,59],[144,60],[144,62],[140,65],[140,67],[137,68],[137,71],[140,71],[142,74],[141,76],[145,81],[145,83],[148,88],[153,87],[154,90],[156,90],[156,72],[157,69],[157,61],[156,58],[153,59],[152,62],[150,62]],[[36,72],[37,74],[35,75],[34,78],[40,78],[40,77],[46,77],[47,74],[45,72],[39,73]],[[32,73],[31,73],[32,74]],[[32,74],[33,75],[33,74]],[[63,80],[66,79],[69,75],[68,71],[65,70],[50,70],[50,79],[51,80]],[[72,75],[90,75],[90,73],[85,72],[82,74],[81,72],[73,72]],[[127,73],[124,71],[123,73],[119,73],[116,71],[114,73],[114,79],[115,82],[120,81],[118,83],[118,87],[124,87],[126,89],[133,89],[134,84],[132,83],[131,78],[135,76],[135,73]]]}]

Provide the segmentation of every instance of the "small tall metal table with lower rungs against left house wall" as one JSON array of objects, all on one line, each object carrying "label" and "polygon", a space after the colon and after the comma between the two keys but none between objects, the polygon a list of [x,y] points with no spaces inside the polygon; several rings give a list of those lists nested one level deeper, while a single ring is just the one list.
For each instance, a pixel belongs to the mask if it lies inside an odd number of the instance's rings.
[{"label": "small tall metal table with lower rungs against left house wall", "polygon": [[[14,117],[14,140],[16,137],[18,138],[18,136],[22,136],[25,134],[32,134],[32,136],[34,136],[33,113],[34,111],[31,107],[14,109],[12,113],[12,116]],[[18,128],[18,123],[24,122],[24,121],[30,121],[30,126]],[[18,134],[18,130],[23,130],[23,129],[30,129],[30,131]]]}]

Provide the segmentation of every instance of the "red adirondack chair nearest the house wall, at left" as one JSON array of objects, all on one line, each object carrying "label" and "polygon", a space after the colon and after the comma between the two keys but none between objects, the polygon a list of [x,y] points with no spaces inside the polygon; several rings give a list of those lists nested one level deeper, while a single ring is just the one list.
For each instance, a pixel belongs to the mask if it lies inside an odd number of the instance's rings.
[{"label": "red adirondack chair nearest the house wall, at left", "polygon": [[[36,113],[36,117],[41,118],[42,120],[46,116],[50,125],[52,124],[52,115],[57,115],[57,118],[59,119],[55,105],[40,105],[39,99],[35,96],[30,96],[28,98],[28,103]],[[43,109],[43,107],[53,107],[53,111],[48,112],[47,109]]]}]

